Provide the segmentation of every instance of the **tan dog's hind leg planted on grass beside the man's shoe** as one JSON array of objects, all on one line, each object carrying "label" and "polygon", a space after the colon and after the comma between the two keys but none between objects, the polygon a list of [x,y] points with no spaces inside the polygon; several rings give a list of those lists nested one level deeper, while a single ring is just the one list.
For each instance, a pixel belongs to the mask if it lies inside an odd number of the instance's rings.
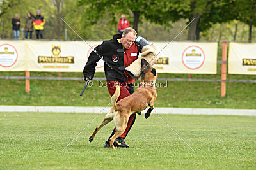
[{"label": "tan dog's hind leg planted on grass beside the man's shoe", "polygon": [[118,138],[119,136],[121,136],[126,127],[127,127],[127,123],[129,120],[129,117],[120,117],[120,115],[118,115],[117,117],[114,117],[114,122],[115,122],[115,127],[116,127],[116,132],[115,134],[109,139],[109,143],[110,146],[113,150],[115,150],[115,146],[114,146],[114,141],[116,140],[116,138]]}]

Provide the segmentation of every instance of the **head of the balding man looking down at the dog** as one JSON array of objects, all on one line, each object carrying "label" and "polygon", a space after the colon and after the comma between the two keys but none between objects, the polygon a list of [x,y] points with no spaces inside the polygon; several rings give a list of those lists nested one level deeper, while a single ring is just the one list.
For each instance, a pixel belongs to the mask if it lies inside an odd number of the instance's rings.
[{"label": "head of the balding man looking down at the dog", "polygon": [[131,27],[128,27],[124,30],[122,38],[120,39],[120,43],[122,43],[125,49],[131,48],[132,44],[135,41],[136,34],[137,32]]}]

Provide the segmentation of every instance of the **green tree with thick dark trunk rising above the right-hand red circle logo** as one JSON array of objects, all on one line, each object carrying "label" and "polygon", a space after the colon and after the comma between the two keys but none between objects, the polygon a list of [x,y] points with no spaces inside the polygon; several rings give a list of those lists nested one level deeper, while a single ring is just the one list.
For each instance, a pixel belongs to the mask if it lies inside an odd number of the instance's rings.
[{"label": "green tree with thick dark trunk rising above the right-hand red circle logo", "polygon": [[[182,7],[182,18],[189,18],[191,23],[188,31],[188,40],[199,40],[200,32],[207,31],[213,24],[228,22],[236,18],[232,10],[234,1],[225,0],[187,0]],[[180,1],[176,3],[180,4]]]}]

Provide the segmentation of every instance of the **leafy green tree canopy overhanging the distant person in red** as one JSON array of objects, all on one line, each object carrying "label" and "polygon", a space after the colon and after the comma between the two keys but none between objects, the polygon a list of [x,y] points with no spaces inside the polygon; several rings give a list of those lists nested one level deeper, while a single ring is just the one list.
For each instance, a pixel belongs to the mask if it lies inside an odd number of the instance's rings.
[{"label": "leafy green tree canopy overhanging the distant person in red", "polygon": [[[78,0],[79,6],[86,6],[84,11],[84,26],[96,24],[98,20],[102,19],[106,14],[111,18],[111,24],[116,23],[121,13],[128,13],[132,16],[133,28],[138,31],[138,24],[141,18],[150,20],[154,23],[159,23],[158,20],[166,19],[168,22],[174,21],[172,15],[168,15],[164,10],[166,5],[170,6],[169,1],[142,1],[142,0],[120,0],[113,1],[94,1],[94,0]],[[164,17],[164,18],[163,18]],[[176,19],[177,20],[177,19]]]}]

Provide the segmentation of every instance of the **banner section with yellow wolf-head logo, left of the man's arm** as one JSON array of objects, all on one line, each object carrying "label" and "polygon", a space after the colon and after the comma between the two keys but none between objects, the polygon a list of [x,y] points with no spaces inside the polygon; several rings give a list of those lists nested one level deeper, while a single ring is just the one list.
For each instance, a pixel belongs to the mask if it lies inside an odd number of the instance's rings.
[{"label": "banner section with yellow wolf-head logo, left of the man's arm", "polygon": [[90,46],[100,42],[26,41],[28,71],[81,72],[87,62]]}]

